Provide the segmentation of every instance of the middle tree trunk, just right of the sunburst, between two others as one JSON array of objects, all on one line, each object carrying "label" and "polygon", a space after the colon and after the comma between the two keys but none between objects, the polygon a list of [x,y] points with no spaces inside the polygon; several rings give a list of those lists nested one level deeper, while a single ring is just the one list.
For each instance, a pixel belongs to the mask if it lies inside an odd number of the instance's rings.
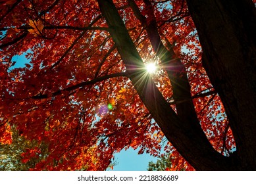
[{"label": "middle tree trunk, just right of the sunburst, between two others", "polygon": [[201,126],[193,106],[188,76],[184,73],[186,68],[182,64],[180,58],[176,57],[173,49],[166,49],[157,30],[157,21],[153,13],[153,6],[149,0],[144,0],[144,2],[146,9],[150,10],[149,12],[151,12],[147,15],[148,20],[150,21],[147,21],[145,16],[140,13],[140,9],[134,0],[129,0],[129,5],[132,7],[134,14],[147,31],[151,45],[157,54],[157,57],[159,57],[161,60],[161,66],[168,74],[170,83],[172,85],[172,97],[176,104],[177,115],[184,123],[184,126],[187,126],[189,129],[192,127],[197,127],[198,131],[201,131]]}]

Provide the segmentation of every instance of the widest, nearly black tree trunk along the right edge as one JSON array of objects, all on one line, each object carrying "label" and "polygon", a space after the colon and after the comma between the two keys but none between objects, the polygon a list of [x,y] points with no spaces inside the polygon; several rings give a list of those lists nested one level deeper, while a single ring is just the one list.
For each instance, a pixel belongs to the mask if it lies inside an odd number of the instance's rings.
[{"label": "widest, nearly black tree trunk along the right edge", "polygon": [[251,0],[187,0],[236,141],[238,170],[256,170],[256,9]]}]

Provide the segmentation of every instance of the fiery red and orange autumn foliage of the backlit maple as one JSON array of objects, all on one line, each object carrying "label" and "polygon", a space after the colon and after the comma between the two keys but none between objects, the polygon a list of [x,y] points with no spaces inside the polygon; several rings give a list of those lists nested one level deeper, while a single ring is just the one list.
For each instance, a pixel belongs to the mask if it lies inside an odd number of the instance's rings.
[{"label": "fiery red and orange autumn foliage of the backlit maple", "polygon": [[[176,80],[187,80],[198,125],[209,143],[224,156],[234,152],[232,130],[202,66],[202,49],[186,1],[114,1],[144,62],[140,67],[124,61],[118,38],[113,37],[116,28],[109,26],[99,3],[1,1],[1,144],[12,144],[15,127],[22,139],[47,145],[47,156],[30,170],[106,170],[115,152],[130,147],[154,156],[164,148],[172,152],[170,170],[193,170],[141,100],[149,91],[142,96],[137,92],[137,86],[153,78],[178,114],[179,104],[188,99],[179,99],[173,88]],[[162,53],[151,35],[161,38]],[[166,51],[170,62],[163,57]],[[26,55],[24,66],[17,55]],[[147,62],[157,64],[154,74],[145,71]],[[133,67],[142,73],[136,83]],[[22,162],[40,156],[39,148],[20,153]]]}]

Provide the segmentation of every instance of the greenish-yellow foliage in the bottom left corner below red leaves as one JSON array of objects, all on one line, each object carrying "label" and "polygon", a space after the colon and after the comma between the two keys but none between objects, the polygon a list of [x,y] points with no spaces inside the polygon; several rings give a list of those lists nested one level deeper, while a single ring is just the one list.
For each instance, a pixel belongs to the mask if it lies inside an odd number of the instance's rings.
[{"label": "greenish-yellow foliage in the bottom left corner below red leaves", "polygon": [[[2,171],[23,171],[23,170],[44,170],[40,166],[47,165],[45,160],[50,155],[49,145],[36,139],[30,140],[20,135],[15,127],[11,129],[12,143],[0,145],[0,170]],[[91,149],[93,150],[93,148]],[[48,167],[55,168],[66,162],[64,155],[59,155],[59,159],[52,160]],[[113,167],[113,164],[110,166]],[[46,167],[45,167],[46,168]],[[80,164],[76,170],[88,170],[88,164]],[[59,168],[61,170],[61,168]],[[71,170],[71,167],[65,168]],[[72,168],[74,170],[74,168]]]}]

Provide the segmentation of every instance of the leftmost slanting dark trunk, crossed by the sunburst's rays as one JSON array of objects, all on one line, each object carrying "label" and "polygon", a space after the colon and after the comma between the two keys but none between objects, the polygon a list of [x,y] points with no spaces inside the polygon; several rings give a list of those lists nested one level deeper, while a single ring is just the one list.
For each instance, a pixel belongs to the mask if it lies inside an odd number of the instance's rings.
[{"label": "leftmost slanting dark trunk, crossed by the sunburst's rays", "polygon": [[201,128],[196,125],[186,126],[170,108],[153,80],[141,71],[143,62],[120,15],[111,0],[97,0],[103,16],[109,26],[109,32],[116,48],[126,65],[126,72],[134,84],[141,101],[145,104],[168,141],[178,149],[180,154],[197,170],[232,170],[230,158],[222,156],[213,149]]}]

